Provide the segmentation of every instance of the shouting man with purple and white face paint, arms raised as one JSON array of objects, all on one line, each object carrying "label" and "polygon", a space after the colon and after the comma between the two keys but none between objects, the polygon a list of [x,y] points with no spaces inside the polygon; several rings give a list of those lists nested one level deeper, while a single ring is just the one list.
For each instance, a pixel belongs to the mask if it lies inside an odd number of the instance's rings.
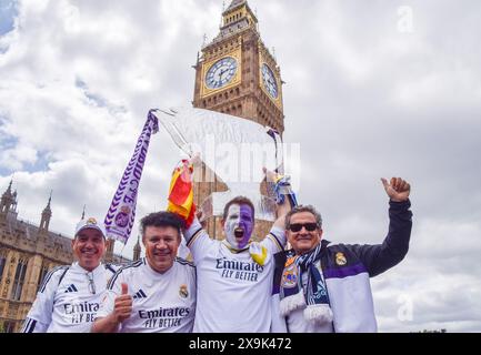
[{"label": "shouting man with purple and white face paint, arms raised", "polygon": [[[267,172],[272,180],[273,173]],[[196,217],[184,231],[197,267],[193,332],[268,333],[271,331],[273,254],[285,245],[284,216],[289,199],[278,204],[278,220],[262,242],[253,242],[255,211],[238,196],[227,203],[221,225],[226,240],[211,240]]]}]

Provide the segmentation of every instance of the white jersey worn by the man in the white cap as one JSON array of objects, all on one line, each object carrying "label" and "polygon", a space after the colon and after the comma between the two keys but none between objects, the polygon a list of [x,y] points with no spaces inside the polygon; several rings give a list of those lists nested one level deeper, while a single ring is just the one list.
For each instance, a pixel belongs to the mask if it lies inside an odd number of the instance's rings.
[{"label": "white jersey worn by the man in the white cap", "polygon": [[23,333],[87,333],[118,267],[100,264],[92,272],[78,263],[47,274],[27,315]]}]

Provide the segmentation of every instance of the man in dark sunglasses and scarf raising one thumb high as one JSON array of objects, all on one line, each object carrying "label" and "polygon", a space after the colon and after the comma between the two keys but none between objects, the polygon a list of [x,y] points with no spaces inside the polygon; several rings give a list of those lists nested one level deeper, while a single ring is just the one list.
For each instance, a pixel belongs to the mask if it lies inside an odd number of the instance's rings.
[{"label": "man in dark sunglasses and scarf raising one thumb high", "polygon": [[292,250],[275,255],[274,332],[375,332],[370,277],[403,260],[412,213],[410,184],[381,179],[390,197],[389,233],[382,244],[331,244],[322,240],[321,215],[310,205],[292,209],[285,232]]}]

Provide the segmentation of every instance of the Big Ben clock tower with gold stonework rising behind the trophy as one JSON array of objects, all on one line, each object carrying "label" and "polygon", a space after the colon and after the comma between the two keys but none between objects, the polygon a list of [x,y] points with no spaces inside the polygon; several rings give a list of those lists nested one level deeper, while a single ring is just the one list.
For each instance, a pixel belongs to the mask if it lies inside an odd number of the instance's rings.
[{"label": "Big Ben clock tower with gold stonework rising behind the trophy", "polygon": [[[196,69],[193,106],[240,116],[284,130],[280,69],[258,31],[258,19],[247,0],[233,0],[222,13],[222,26],[202,48]],[[202,168],[202,176],[212,176]],[[202,180],[202,179],[201,179]],[[194,184],[198,206],[212,193],[226,191],[217,178]],[[222,239],[219,217],[208,221],[209,235]],[[253,233],[264,236],[271,223],[259,221]]]}]

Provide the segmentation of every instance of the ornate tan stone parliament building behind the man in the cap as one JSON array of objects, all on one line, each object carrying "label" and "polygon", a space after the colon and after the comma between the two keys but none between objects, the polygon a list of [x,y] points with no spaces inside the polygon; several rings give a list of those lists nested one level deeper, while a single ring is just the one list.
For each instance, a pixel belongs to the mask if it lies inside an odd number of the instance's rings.
[{"label": "ornate tan stone parliament building behind the man in the cap", "polygon": [[[0,333],[19,332],[47,273],[73,262],[73,236],[49,231],[51,199],[37,226],[18,217],[17,191],[11,187],[12,182],[0,199]],[[140,251],[138,243],[134,260]],[[108,240],[104,262],[122,264],[130,260],[113,254],[113,240]]]}]

